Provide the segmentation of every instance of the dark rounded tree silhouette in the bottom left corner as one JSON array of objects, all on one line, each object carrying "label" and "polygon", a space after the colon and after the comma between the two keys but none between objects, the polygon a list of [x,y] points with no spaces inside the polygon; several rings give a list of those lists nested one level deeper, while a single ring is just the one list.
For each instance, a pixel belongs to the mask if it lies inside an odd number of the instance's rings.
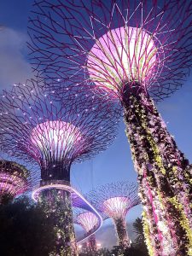
[{"label": "dark rounded tree silhouette in the bottom left corner", "polygon": [[27,197],[0,206],[1,255],[47,256],[54,241],[51,219]]}]

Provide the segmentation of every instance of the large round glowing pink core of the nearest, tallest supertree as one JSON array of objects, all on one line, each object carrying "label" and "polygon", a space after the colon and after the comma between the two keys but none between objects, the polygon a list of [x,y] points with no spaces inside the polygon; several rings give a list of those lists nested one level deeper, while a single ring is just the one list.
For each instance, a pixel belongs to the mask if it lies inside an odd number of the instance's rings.
[{"label": "large round glowing pink core of the nearest, tallest supertree", "polygon": [[143,28],[122,26],[96,40],[87,68],[96,85],[117,91],[123,82],[145,84],[157,62],[152,36]]}]

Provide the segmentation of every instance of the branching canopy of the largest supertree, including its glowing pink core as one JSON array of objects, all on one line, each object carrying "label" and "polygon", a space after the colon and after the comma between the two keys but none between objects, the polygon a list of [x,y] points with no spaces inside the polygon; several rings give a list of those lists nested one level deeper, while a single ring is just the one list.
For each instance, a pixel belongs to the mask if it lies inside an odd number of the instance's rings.
[{"label": "branching canopy of the largest supertree, including its glowing pink core", "polygon": [[83,79],[122,98],[138,81],[160,100],[189,73],[189,1],[35,1],[28,27],[33,68],[55,83]]}]

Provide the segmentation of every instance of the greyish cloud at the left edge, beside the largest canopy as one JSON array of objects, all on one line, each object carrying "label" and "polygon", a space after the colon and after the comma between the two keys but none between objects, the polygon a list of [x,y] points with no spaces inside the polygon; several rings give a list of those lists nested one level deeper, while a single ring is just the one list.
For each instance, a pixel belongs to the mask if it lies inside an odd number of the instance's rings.
[{"label": "greyish cloud at the left edge, beside the largest canopy", "polygon": [[32,78],[32,69],[26,60],[26,41],[26,34],[0,26],[1,89]]}]

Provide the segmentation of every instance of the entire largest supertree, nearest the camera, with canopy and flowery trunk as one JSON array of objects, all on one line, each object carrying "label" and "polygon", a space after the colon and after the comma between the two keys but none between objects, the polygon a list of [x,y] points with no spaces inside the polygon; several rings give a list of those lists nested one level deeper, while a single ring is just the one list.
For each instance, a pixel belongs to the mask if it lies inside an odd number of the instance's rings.
[{"label": "entire largest supertree, nearest the camera, with canopy and flowery trunk", "polygon": [[[189,161],[154,106],[191,66],[191,3],[164,0],[38,1],[29,32],[32,64],[46,81],[83,81],[119,100],[140,183],[150,255],[192,254]],[[85,83],[87,86],[85,86]]]}]

